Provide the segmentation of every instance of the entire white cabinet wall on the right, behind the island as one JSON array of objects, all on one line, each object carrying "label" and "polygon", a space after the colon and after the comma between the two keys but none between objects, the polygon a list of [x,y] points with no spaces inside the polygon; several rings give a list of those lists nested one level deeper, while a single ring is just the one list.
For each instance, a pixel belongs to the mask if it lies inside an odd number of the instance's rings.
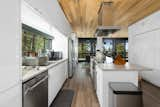
[{"label": "entire white cabinet wall on the right, behind the island", "polygon": [[129,62],[152,68],[147,81],[160,86],[160,11],[129,27]]}]

